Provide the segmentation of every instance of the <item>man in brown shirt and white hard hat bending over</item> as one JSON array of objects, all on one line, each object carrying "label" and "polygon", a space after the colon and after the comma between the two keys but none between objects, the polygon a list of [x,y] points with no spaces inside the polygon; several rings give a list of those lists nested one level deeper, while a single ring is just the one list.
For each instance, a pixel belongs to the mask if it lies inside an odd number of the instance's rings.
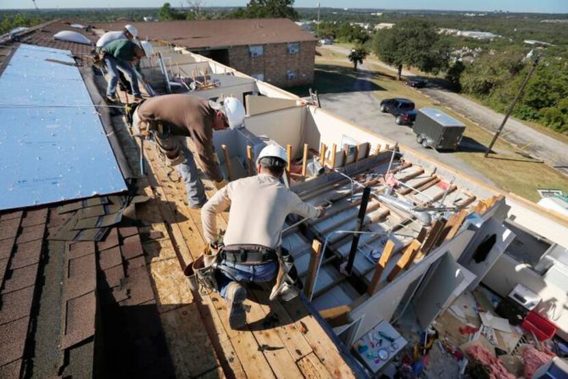
[{"label": "man in brown shirt and white hard hat bending over", "polygon": [[[143,101],[133,109],[133,126],[142,133],[151,133],[157,148],[169,166],[176,166],[185,183],[188,205],[201,208],[207,201],[205,188],[199,179],[194,154],[205,174],[223,187],[213,144],[213,131],[235,129],[244,122],[245,110],[240,100],[227,97],[222,103],[207,101],[188,94],[167,94]],[[192,140],[194,153],[186,138]]]}]

